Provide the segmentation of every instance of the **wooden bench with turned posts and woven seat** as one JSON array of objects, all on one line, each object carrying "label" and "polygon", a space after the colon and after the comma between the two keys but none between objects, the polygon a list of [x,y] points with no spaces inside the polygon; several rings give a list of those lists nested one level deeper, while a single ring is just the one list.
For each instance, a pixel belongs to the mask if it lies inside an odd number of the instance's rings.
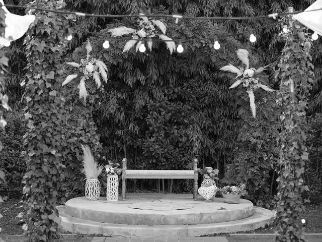
[{"label": "wooden bench with turned posts and woven seat", "polygon": [[198,160],[193,161],[193,170],[128,170],[126,169],[126,161],[122,160],[122,200],[125,200],[126,184],[125,180],[133,179],[194,179],[193,199],[197,201],[198,196]]}]

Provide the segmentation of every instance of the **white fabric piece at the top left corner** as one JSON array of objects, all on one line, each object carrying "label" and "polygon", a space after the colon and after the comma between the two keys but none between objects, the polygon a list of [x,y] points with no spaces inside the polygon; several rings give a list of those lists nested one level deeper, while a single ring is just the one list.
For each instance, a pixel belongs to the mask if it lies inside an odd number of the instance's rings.
[{"label": "white fabric piece at the top left corner", "polygon": [[[0,3],[5,5],[3,0],[0,0]],[[4,6],[2,9],[5,11],[6,29],[5,35],[0,36],[0,45],[21,38],[27,32],[29,25],[36,19],[35,15],[20,16],[10,13]]]}]

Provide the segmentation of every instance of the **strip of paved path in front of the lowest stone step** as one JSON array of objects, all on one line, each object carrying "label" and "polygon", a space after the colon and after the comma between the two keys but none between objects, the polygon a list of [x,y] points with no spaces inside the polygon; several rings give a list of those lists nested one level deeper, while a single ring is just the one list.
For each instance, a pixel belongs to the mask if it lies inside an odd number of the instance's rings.
[{"label": "strip of paved path in front of the lowest stone step", "polygon": [[92,242],[228,242],[226,237],[155,237],[155,238],[118,238],[95,237]]}]

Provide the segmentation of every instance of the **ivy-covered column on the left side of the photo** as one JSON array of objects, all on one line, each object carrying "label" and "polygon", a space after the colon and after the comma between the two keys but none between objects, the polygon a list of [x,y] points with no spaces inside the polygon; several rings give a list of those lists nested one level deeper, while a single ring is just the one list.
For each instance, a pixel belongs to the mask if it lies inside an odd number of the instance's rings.
[{"label": "ivy-covered column on the left side of the photo", "polygon": [[[56,1],[37,1],[37,7],[57,9]],[[64,115],[60,86],[63,79],[65,29],[69,15],[34,12],[36,20],[25,39],[27,56],[25,116],[28,132],[24,136],[27,150],[27,173],[23,183],[27,211],[23,228],[29,241],[53,241],[61,237],[56,207],[57,189],[61,186],[60,146]]]}]

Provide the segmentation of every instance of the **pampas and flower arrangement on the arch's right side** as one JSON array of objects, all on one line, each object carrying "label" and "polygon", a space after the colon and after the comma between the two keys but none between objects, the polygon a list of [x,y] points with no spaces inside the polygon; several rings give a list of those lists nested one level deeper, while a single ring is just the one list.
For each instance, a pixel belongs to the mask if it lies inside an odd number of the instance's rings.
[{"label": "pampas and flower arrangement on the arch's right side", "polygon": [[256,117],[256,105],[255,105],[255,96],[254,96],[254,90],[258,89],[258,88],[262,88],[265,91],[268,92],[274,92],[273,89],[269,88],[266,85],[261,84],[261,82],[259,81],[259,77],[257,77],[257,75],[261,72],[263,72],[264,70],[266,70],[266,68],[268,66],[265,67],[260,67],[258,69],[255,68],[249,68],[249,52],[246,49],[237,49],[236,54],[238,56],[238,58],[240,59],[240,61],[245,64],[245,68],[244,67],[234,67],[231,64],[224,66],[220,69],[220,71],[228,71],[231,73],[235,73],[237,76],[236,78],[239,77],[239,79],[237,81],[235,81],[230,87],[230,88],[235,88],[237,86],[239,86],[240,84],[243,85],[243,87],[246,89],[246,92],[248,93],[248,96],[250,98],[250,106],[251,106],[251,110],[252,110],[252,114],[254,117]]}]

